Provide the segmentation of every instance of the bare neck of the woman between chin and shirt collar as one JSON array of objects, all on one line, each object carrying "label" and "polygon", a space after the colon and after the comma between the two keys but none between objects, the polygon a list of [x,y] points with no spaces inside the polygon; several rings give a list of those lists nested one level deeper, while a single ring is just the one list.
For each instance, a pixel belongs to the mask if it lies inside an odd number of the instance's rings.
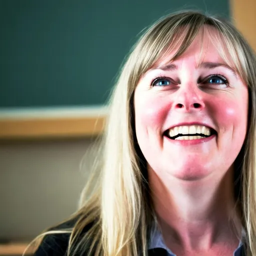
[{"label": "bare neck of the woman between chin and shirt collar", "polygon": [[[241,226],[235,213],[233,170],[201,180],[159,178],[148,168],[152,200],[163,238],[188,250],[234,242]],[[234,225],[235,223],[235,225]]]}]

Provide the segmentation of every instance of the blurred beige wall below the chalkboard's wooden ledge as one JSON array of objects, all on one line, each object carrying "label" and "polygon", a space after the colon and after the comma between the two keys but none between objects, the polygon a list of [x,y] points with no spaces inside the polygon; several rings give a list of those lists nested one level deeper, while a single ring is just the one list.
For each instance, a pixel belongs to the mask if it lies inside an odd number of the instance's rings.
[{"label": "blurred beige wall below the chalkboard's wooden ledge", "polygon": [[0,238],[29,239],[76,209],[93,157],[79,165],[92,142],[0,144]]}]

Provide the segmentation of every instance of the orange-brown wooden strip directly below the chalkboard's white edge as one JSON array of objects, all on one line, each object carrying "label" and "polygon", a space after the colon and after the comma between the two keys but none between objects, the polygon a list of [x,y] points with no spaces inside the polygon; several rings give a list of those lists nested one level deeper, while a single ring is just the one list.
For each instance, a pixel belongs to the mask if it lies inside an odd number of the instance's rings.
[{"label": "orange-brown wooden strip directly below the chalkboard's white edge", "polygon": [[100,134],[103,126],[104,117],[1,119],[0,139],[83,137]]}]

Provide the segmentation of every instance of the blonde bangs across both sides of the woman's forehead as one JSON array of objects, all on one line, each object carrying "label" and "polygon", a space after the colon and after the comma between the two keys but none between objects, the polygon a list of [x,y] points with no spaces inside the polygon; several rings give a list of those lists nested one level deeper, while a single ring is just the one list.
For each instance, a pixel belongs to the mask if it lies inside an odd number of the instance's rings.
[{"label": "blonde bangs across both sides of the woman's forehead", "polygon": [[[176,52],[168,59],[169,62],[181,56],[198,34],[201,36],[200,41],[203,45],[205,32],[224,63],[234,69],[248,86],[253,86],[250,77],[255,77],[256,73],[251,75],[247,71],[250,70],[250,66],[255,65],[253,52],[231,24],[199,13],[181,12],[179,15],[172,14],[159,19],[135,45],[130,56],[133,63],[129,80],[130,92],[135,89],[139,78],[147,70],[156,67],[173,49],[176,49]],[[212,28],[216,30],[218,36],[210,32]]]}]

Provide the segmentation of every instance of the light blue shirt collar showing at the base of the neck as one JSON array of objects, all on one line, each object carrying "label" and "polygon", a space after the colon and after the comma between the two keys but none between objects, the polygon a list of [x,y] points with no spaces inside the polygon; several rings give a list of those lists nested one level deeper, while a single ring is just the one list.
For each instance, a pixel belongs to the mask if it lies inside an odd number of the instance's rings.
[{"label": "light blue shirt collar showing at the base of the neck", "polygon": [[[167,251],[166,256],[176,256],[164,243],[161,232],[158,229],[155,229],[151,232],[151,238],[149,242],[148,249],[162,248]],[[233,256],[241,256],[243,249],[243,243],[240,240],[238,247],[233,252]]]}]

